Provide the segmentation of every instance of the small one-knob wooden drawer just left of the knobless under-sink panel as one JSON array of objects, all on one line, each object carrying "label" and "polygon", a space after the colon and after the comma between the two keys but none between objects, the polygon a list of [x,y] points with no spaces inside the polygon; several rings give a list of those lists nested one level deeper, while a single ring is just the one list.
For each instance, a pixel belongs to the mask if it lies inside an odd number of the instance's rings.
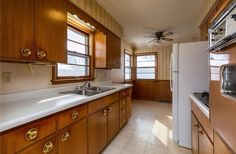
[{"label": "small one-knob wooden drawer just left of the knobless under-sink panel", "polygon": [[74,107],[72,109],[60,112],[57,115],[57,126],[58,129],[62,129],[84,117],[87,116],[88,112],[87,104]]}]

